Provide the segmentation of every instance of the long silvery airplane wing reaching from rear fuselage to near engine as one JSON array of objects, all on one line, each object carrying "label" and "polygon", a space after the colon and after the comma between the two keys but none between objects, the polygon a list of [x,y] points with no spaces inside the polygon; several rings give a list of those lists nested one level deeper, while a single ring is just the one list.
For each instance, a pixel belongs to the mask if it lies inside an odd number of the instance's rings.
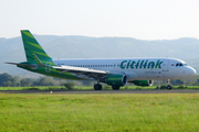
[{"label": "long silvery airplane wing reaching from rear fuselage to near engine", "polygon": [[83,68],[83,67],[72,67],[72,66],[52,66],[52,68],[60,70],[60,74],[63,73],[71,73],[75,76],[83,77],[83,78],[94,78],[94,79],[101,79],[107,76],[109,72],[105,70],[96,70],[91,68]]}]

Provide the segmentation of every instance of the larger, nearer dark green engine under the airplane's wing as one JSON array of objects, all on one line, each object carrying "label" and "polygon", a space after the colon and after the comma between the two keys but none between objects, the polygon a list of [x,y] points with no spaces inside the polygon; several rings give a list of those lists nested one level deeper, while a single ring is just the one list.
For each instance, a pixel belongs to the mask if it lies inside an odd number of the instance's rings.
[{"label": "larger, nearer dark green engine under the airplane's wing", "polygon": [[125,86],[126,82],[126,75],[107,75],[106,77],[106,84],[111,86]]}]

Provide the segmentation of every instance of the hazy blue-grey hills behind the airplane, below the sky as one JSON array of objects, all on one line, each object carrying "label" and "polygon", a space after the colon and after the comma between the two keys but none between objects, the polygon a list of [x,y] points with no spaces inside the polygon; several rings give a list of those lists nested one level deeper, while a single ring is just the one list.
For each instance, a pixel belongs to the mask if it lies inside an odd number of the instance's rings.
[{"label": "hazy blue-grey hills behind the airplane, below the sky", "polygon": [[[34,35],[52,58],[176,57],[199,69],[199,40],[142,41],[132,37]],[[0,38],[0,73],[35,76],[4,62],[25,61],[21,36]]]}]

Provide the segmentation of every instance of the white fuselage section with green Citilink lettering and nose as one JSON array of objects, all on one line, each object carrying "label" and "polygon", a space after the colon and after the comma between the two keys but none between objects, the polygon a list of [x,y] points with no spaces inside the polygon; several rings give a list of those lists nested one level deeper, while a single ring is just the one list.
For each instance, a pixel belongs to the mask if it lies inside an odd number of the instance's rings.
[{"label": "white fuselage section with green Citilink lettering and nose", "polygon": [[125,74],[128,81],[145,79],[181,79],[196,70],[177,58],[109,58],[109,59],[53,59],[57,66],[84,67]]}]

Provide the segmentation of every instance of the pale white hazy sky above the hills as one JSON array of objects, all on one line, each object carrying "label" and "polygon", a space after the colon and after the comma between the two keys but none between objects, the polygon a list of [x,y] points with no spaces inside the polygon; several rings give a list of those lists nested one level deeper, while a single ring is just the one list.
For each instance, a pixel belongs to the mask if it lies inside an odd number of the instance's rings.
[{"label": "pale white hazy sky above the hills", "polygon": [[0,37],[199,38],[199,0],[0,0]]}]

